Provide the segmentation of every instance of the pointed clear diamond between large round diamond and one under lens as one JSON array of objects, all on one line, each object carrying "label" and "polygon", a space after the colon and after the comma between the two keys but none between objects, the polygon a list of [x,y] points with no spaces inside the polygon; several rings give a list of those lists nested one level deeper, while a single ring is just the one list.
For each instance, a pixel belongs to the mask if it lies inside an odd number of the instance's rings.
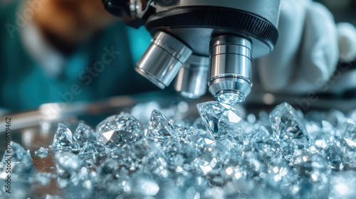
[{"label": "pointed clear diamond between large round diamond and one under lens", "polygon": [[150,136],[157,136],[167,139],[169,137],[177,138],[177,132],[172,122],[167,117],[157,110],[153,110],[151,120],[148,126]]}]

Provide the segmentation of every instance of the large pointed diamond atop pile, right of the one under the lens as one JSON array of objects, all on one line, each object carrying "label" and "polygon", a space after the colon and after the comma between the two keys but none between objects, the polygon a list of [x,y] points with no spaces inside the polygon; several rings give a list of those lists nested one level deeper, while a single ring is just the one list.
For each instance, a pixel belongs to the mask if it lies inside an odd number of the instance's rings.
[{"label": "large pointed diamond atop pile, right of the one under the lens", "polygon": [[290,104],[279,104],[269,116],[273,135],[284,141],[292,141],[295,144],[308,146],[309,134],[302,119],[298,116]]}]

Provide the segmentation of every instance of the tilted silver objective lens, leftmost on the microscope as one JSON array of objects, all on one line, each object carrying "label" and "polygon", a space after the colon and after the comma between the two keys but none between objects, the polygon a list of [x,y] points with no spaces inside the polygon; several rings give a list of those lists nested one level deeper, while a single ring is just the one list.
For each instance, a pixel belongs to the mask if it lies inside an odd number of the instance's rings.
[{"label": "tilted silver objective lens, leftmost on the microscope", "polygon": [[135,70],[157,87],[169,86],[192,50],[173,36],[157,32],[150,47],[138,61]]}]

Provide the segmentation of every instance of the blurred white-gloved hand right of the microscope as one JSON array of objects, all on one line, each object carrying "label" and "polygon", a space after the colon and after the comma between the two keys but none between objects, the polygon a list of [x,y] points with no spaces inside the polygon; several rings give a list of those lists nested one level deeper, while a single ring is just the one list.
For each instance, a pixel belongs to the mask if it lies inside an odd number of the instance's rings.
[{"label": "blurred white-gloved hand right of the microscope", "polygon": [[[338,60],[350,61],[356,57],[355,26],[335,25],[330,11],[317,2],[281,0],[278,31],[273,53],[254,61],[257,72],[254,75],[259,79],[254,82],[259,81],[267,92],[293,95],[318,92],[333,77]],[[355,75],[349,75],[354,82]],[[356,83],[352,86],[356,87]],[[338,85],[336,89],[342,88]]]}]

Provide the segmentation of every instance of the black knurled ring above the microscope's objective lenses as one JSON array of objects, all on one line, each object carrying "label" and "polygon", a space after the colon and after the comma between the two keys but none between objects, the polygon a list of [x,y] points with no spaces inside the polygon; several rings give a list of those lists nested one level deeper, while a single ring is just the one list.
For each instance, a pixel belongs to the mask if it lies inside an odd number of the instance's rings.
[{"label": "black knurled ring above the microscope's objective lenses", "polygon": [[192,6],[168,9],[153,14],[147,21],[148,30],[155,28],[214,28],[258,39],[273,50],[278,30],[261,16],[225,7]]}]

